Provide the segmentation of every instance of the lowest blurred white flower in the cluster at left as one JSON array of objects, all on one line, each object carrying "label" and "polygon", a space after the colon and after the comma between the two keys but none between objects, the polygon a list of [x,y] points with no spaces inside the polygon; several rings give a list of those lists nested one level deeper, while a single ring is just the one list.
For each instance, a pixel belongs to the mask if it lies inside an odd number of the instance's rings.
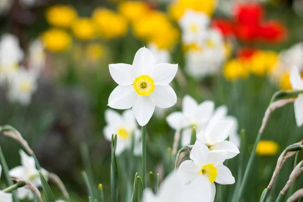
[{"label": "lowest blurred white flower in the cluster at left", "polygon": [[32,71],[19,69],[11,79],[8,99],[27,106],[31,102],[31,96],[37,89],[36,74]]}]

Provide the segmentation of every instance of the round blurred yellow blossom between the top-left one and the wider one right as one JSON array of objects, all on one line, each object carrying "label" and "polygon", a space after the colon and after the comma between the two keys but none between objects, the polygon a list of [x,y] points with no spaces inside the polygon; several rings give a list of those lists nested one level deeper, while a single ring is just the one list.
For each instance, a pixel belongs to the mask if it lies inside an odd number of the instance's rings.
[{"label": "round blurred yellow blossom between the top-left one and the wider one right", "polygon": [[79,18],[73,25],[72,30],[76,38],[90,40],[95,36],[95,24],[89,18]]}]

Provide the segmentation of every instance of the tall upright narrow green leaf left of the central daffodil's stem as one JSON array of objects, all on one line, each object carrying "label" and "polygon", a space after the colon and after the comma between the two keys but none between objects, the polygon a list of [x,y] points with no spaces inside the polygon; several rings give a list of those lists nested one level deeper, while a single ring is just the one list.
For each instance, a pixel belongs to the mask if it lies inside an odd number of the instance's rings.
[{"label": "tall upright narrow green leaf left of the central daffodil's stem", "polygon": [[116,159],[117,135],[112,135],[112,162],[111,162],[111,193],[112,202],[118,202],[118,178],[119,170]]}]

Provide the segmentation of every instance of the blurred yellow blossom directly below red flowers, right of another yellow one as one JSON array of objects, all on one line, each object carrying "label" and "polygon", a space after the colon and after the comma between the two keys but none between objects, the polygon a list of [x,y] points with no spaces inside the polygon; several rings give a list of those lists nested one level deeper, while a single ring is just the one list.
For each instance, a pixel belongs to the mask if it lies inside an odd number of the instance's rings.
[{"label": "blurred yellow blossom directly below red flowers, right of another yellow one", "polygon": [[249,69],[252,74],[265,76],[278,62],[278,55],[272,51],[256,51],[250,59]]}]

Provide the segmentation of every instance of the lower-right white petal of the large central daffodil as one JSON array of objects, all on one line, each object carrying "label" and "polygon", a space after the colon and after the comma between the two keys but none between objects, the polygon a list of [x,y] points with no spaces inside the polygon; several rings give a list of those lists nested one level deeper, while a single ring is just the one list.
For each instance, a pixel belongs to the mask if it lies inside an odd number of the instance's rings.
[{"label": "lower-right white petal of the large central daffodil", "polygon": [[170,108],[177,103],[177,95],[169,85],[156,85],[155,90],[149,96],[154,99],[155,105],[162,109]]}]

